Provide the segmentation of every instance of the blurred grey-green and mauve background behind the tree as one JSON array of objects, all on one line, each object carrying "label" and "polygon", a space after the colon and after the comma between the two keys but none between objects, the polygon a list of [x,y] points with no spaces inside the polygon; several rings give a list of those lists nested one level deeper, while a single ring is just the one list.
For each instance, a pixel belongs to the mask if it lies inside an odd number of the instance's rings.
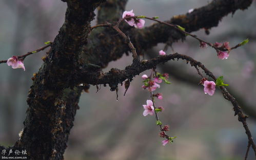
[{"label": "blurred grey-green and mauve background behind the tree", "polygon": [[[160,20],[168,20],[208,3],[203,0],[130,0],[126,10],[133,9],[136,15],[159,16]],[[53,41],[64,22],[65,10],[66,3],[61,1],[0,1],[0,59],[23,55],[42,47],[45,41]],[[218,59],[213,49],[200,49],[198,41],[190,37],[173,44],[175,52],[201,61],[216,77],[224,75],[224,82],[230,84],[227,88],[239,96],[239,103],[243,102],[241,107],[250,108],[250,112],[256,109],[255,17],[254,1],[248,10],[239,10],[224,17],[218,28],[210,30],[210,35],[203,30],[194,33],[211,43],[229,41],[231,46],[250,39],[245,46],[231,51],[227,60]],[[146,26],[151,24],[152,21],[146,20]],[[159,44],[148,53],[152,56],[163,48],[164,44]],[[13,145],[18,139],[26,117],[31,77],[42,65],[41,57],[46,51],[25,59],[26,72],[0,64],[1,145]],[[169,49],[167,54],[172,52]],[[111,62],[104,71],[111,67],[123,69],[131,64],[131,59],[131,55],[124,55],[120,60]],[[188,77],[185,82],[170,75],[171,84],[162,84],[157,90],[164,95],[163,100],[156,100],[157,106],[165,107],[160,119],[170,125],[169,134],[178,137],[173,144],[162,146],[163,139],[159,136],[154,117],[142,115],[142,105],[149,99],[149,93],[141,89],[141,74],[131,82],[125,97],[124,86],[119,87],[119,101],[116,101],[115,92],[110,92],[109,87],[102,86],[95,93],[96,87],[91,86],[89,93],[82,94],[65,159],[242,159],[247,136],[242,124],[233,116],[231,104],[221,92],[210,97],[204,94],[203,86],[189,82],[199,82],[200,77],[194,68],[185,64],[179,60],[157,67],[157,71],[162,73],[162,70],[169,68],[179,70],[180,75]],[[255,138],[256,117],[250,117],[248,125]],[[248,159],[254,159],[252,149]]]}]

